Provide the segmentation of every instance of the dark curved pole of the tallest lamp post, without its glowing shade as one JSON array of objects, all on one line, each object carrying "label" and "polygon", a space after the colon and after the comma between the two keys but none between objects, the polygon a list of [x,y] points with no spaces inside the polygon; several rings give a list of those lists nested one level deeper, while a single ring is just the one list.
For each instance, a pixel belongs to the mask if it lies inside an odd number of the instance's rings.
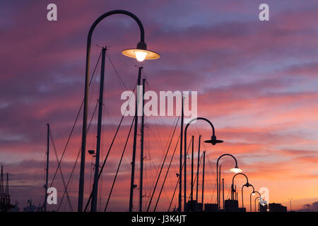
[{"label": "dark curved pole of the tallest lamp post, without its glowing shade", "polygon": [[86,73],[85,73],[85,90],[84,90],[84,104],[83,104],[83,128],[82,128],[82,143],[81,143],[81,166],[80,166],[80,178],[78,184],[78,212],[83,211],[83,196],[84,196],[84,174],[85,174],[85,155],[86,155],[86,133],[87,133],[87,117],[88,117],[88,89],[89,89],[89,72],[90,72],[90,45],[92,42],[93,31],[95,30],[96,25],[100,23],[101,20],[107,16],[114,14],[124,14],[133,18],[136,23],[139,25],[140,29],[140,42],[137,44],[137,49],[146,49],[145,34],[143,30],[143,25],[139,18],[137,18],[133,13],[124,10],[114,10],[102,14],[93,25],[90,27],[87,38],[87,47],[86,47]]}]

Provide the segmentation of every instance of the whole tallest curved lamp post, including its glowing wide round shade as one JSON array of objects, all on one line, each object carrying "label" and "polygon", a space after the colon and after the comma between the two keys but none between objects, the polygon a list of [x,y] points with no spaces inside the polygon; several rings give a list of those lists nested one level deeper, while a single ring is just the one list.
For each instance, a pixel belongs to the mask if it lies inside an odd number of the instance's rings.
[{"label": "whole tallest curved lamp post, including its glowing wide round shade", "polygon": [[[90,45],[92,41],[93,31],[96,25],[100,23],[101,20],[107,16],[114,14],[124,14],[133,18],[139,25],[140,30],[140,42],[137,44],[136,49],[125,49],[122,51],[127,57],[136,58],[138,61],[143,61],[144,59],[158,59],[159,54],[147,50],[147,44],[145,42],[145,32],[143,30],[143,25],[139,18],[137,18],[133,13],[124,10],[114,10],[102,14],[93,25],[90,27],[87,38],[87,49],[86,49],[86,75],[85,75],[85,94],[84,94],[84,106],[83,106],[83,129],[82,129],[82,145],[81,145],[81,169],[80,169],[80,179],[78,186],[78,212],[83,210],[83,194],[84,194],[84,173],[85,173],[85,154],[86,154],[86,132],[87,132],[87,115],[88,115],[88,86],[89,86],[89,71],[90,71]],[[95,184],[97,186],[97,184]]]}]

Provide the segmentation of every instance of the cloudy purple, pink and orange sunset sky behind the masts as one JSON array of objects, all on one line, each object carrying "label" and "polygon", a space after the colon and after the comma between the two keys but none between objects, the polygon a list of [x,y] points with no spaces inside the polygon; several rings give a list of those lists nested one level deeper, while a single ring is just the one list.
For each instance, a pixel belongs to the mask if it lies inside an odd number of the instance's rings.
[{"label": "cloudy purple, pink and orange sunset sky behind the masts", "polygon": [[[47,20],[49,3],[57,4],[57,21]],[[261,3],[269,4],[269,21],[259,20]],[[114,9],[131,11],[140,18],[148,49],[161,57],[140,64],[121,54],[122,49],[135,48],[139,42],[139,28],[127,16],[110,16],[95,29],[90,76],[101,48],[108,49],[101,161],[122,117],[120,95],[126,88],[133,90],[136,66],[142,65],[146,90],[197,91],[198,116],[210,119],[217,138],[224,141],[215,146],[201,144],[201,151],[206,150],[205,203],[216,202],[216,160],[223,153],[237,157],[257,191],[269,189],[271,203],[282,203],[289,210],[288,198],[293,198],[292,208],[298,210],[318,201],[317,0],[55,0],[0,2],[0,163],[9,173],[12,203],[18,201],[22,209],[30,198],[35,204],[44,200],[46,124],[51,125],[61,157],[83,100],[88,30],[98,16]],[[98,99],[99,75],[100,65],[90,85],[88,119]],[[66,182],[81,145],[82,117],[83,112],[61,164]],[[124,118],[102,174],[99,210],[105,208],[131,120]],[[146,117],[145,121],[144,209],[177,117]],[[179,124],[153,204],[177,145]],[[97,114],[88,131],[87,150],[96,149],[96,130]],[[208,124],[198,121],[189,127],[188,145],[195,136],[195,163],[199,134],[203,141],[211,138]],[[132,137],[107,210],[128,210]],[[57,169],[53,146],[50,148],[49,182]],[[137,148],[135,184],[139,184],[140,142]],[[91,162],[87,154],[84,203],[92,186]],[[190,166],[190,159],[187,163]],[[233,174],[228,169],[234,162],[224,157],[220,164],[225,198],[229,198]],[[178,170],[179,145],[158,210],[167,210]],[[77,209],[78,176],[79,162],[69,189],[73,210]],[[199,183],[201,196],[201,177]],[[241,187],[244,177],[236,177],[235,183]],[[57,188],[59,204],[64,191],[59,174],[52,186]],[[251,191],[245,188],[247,210]],[[172,208],[177,206],[177,194]],[[138,210],[138,198],[136,189],[134,210]],[[49,206],[49,210],[57,210],[57,206]],[[70,210],[65,198],[60,210]]]}]

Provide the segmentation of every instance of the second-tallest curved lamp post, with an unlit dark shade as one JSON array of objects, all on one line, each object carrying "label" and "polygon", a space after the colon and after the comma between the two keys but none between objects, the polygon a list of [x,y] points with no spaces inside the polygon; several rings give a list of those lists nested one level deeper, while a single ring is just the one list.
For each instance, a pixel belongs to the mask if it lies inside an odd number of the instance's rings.
[{"label": "second-tallest curved lamp post, with an unlit dark shade", "polygon": [[197,118],[189,121],[187,126],[185,126],[185,129],[184,129],[184,211],[187,210],[187,195],[186,195],[187,194],[187,129],[188,129],[189,125],[193,121],[196,121],[196,120],[204,120],[204,121],[208,122],[208,124],[210,124],[210,126],[212,128],[211,140],[204,141],[205,143],[211,143],[212,145],[216,145],[216,143],[223,143],[223,141],[216,139],[214,126],[213,126],[212,122],[206,118],[197,117]]}]

